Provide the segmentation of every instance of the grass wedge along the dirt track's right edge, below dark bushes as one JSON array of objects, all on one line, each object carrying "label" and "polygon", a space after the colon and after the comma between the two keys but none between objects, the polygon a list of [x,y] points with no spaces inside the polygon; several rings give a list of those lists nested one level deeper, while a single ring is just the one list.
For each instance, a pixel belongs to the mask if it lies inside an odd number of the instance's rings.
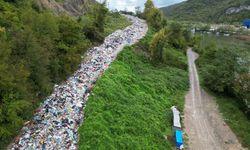
[{"label": "grass wedge along the dirt track's right edge, below dark bushes", "polygon": [[226,123],[237,135],[243,146],[250,148],[250,121],[242,112],[241,105],[236,98],[226,96],[216,96],[216,102],[219,105],[220,112]]}]

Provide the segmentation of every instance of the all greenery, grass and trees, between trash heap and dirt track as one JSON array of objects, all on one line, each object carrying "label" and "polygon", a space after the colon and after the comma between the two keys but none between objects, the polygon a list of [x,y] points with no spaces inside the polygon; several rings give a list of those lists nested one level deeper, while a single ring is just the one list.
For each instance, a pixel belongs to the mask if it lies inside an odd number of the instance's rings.
[{"label": "all greenery, grass and trees, between trash heap and dirt track", "polygon": [[180,24],[167,24],[151,0],[138,14],[150,29],[97,81],[79,129],[79,149],[174,147],[170,108],[183,111],[189,87],[185,53],[193,38]]}]

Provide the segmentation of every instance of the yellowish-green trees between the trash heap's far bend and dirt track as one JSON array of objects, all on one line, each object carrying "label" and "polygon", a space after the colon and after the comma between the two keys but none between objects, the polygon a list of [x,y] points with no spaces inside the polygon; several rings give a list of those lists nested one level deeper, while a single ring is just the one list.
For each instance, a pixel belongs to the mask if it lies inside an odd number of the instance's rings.
[{"label": "yellowish-green trees between the trash heap's far bend and dirt track", "polygon": [[186,49],[196,43],[190,30],[178,22],[168,21],[152,0],[147,0],[144,11],[137,10],[136,15],[144,18],[152,31],[152,40],[149,38],[143,42],[143,49],[152,62],[187,69]]}]

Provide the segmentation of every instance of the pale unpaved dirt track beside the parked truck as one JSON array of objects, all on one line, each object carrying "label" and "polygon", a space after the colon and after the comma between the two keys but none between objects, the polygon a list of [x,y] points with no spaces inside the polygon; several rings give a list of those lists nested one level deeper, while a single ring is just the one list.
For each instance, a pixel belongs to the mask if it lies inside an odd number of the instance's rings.
[{"label": "pale unpaved dirt track beside the parked truck", "polygon": [[186,95],[184,133],[188,135],[187,149],[241,150],[241,144],[224,122],[213,98],[200,88],[195,60],[198,55],[189,49],[188,65],[190,91]]}]

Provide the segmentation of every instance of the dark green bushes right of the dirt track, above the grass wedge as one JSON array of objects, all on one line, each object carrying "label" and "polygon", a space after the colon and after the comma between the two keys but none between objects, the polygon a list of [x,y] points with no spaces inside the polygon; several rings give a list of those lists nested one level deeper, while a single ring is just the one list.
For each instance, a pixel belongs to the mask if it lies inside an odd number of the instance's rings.
[{"label": "dark green bushes right of the dirt track, above the grass wedge", "polygon": [[219,45],[223,44],[221,47],[213,40],[208,41],[206,38],[208,46],[202,48],[200,45],[199,49],[198,66],[206,81],[203,84],[214,92],[237,97],[243,110],[250,113],[249,47],[245,48],[247,45],[240,45],[239,41],[237,45],[231,45],[219,39]]}]

